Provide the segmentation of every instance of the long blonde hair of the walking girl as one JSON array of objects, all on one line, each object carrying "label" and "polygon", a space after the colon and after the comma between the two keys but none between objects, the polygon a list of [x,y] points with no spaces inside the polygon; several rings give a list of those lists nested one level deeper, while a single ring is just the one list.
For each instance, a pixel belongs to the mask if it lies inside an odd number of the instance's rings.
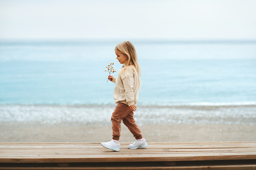
[{"label": "long blonde hair of the walking girl", "polygon": [[138,83],[139,83],[139,88],[141,87],[140,84],[140,77],[141,77],[141,71],[140,71],[140,66],[139,66],[139,61],[137,58],[136,50],[132,43],[130,41],[124,41],[122,43],[119,43],[115,51],[118,51],[122,54],[124,54],[127,57],[127,60],[124,63],[123,68],[120,70],[120,76],[126,71],[128,74],[128,69],[131,66],[134,66],[138,75]]}]

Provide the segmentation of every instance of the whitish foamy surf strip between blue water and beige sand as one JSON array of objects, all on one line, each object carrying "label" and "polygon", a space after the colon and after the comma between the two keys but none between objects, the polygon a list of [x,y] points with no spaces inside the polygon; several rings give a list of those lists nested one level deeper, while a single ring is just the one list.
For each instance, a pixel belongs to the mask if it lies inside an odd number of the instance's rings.
[{"label": "whitish foamy surf strip between blue water and beige sand", "polygon": [[[0,105],[0,123],[73,123],[104,126],[111,123],[115,105]],[[256,105],[137,106],[134,118],[147,124],[256,124]]]}]

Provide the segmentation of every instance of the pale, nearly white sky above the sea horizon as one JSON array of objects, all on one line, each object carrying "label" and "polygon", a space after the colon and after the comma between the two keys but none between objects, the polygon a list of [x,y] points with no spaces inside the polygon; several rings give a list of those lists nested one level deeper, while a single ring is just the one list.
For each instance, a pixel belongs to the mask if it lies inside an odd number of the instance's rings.
[{"label": "pale, nearly white sky above the sea horizon", "polygon": [[0,0],[0,40],[256,40],[255,0]]}]

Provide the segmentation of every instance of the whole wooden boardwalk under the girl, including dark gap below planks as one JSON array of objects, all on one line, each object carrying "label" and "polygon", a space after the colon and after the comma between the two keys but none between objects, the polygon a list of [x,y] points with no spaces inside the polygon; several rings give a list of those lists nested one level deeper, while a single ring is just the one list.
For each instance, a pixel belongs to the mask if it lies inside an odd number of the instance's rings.
[{"label": "whole wooden boardwalk under the girl, including dark gap below planks", "polygon": [[256,142],[0,143],[0,169],[256,169]]}]

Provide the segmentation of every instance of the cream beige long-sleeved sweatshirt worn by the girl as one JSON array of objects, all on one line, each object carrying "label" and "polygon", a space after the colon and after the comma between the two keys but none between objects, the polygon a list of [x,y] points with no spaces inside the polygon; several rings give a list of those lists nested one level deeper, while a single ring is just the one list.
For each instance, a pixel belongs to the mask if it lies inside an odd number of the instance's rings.
[{"label": "cream beige long-sleeved sweatshirt worn by the girl", "polygon": [[124,71],[117,78],[113,78],[115,83],[114,99],[115,103],[124,103],[128,106],[136,104],[139,99],[139,82],[138,75],[134,66],[130,66],[128,71]]}]

